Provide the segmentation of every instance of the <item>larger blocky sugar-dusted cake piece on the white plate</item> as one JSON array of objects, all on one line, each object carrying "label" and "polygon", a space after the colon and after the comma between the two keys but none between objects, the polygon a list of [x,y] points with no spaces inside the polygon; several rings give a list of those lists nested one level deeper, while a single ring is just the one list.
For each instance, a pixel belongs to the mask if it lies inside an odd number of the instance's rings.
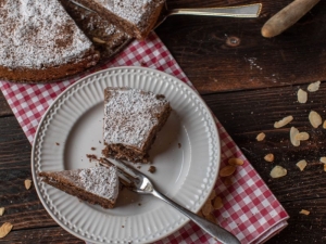
[{"label": "larger blocky sugar-dusted cake piece on the white plate", "polygon": [[148,163],[148,152],[170,114],[170,102],[162,94],[130,88],[106,88],[103,155]]}]

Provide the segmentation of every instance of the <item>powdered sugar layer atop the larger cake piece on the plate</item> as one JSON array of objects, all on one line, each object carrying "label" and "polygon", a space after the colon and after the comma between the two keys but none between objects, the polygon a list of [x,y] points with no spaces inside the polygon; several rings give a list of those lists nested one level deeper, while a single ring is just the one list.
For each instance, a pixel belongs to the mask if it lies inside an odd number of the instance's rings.
[{"label": "powdered sugar layer atop the larger cake piece on the plate", "polygon": [[106,88],[104,104],[104,141],[141,149],[159,124],[156,117],[168,105],[164,98],[137,89]]}]

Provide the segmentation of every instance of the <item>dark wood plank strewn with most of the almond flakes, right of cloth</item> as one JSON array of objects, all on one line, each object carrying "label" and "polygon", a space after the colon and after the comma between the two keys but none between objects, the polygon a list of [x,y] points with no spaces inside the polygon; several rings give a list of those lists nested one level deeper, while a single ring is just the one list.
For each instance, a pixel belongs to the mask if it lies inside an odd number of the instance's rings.
[{"label": "dark wood plank strewn with most of the almond flakes, right of cloth", "polygon": [[[306,89],[305,86],[301,86]],[[266,181],[275,195],[284,201],[326,196],[326,172],[319,157],[326,155],[326,130],[314,129],[308,119],[311,110],[318,112],[326,119],[326,82],[317,92],[309,92],[306,104],[297,102],[299,87],[261,89],[241,92],[226,92],[204,95],[204,100],[217,116],[235,142],[242,150],[250,163]],[[279,129],[274,123],[292,115],[293,121]],[[296,147],[289,141],[290,127],[310,133],[309,141]],[[255,137],[265,132],[266,139],[258,142]],[[273,153],[274,163],[263,157]],[[308,167],[300,171],[296,163],[306,159]],[[272,179],[269,171],[275,165],[288,170],[284,178]]]}]

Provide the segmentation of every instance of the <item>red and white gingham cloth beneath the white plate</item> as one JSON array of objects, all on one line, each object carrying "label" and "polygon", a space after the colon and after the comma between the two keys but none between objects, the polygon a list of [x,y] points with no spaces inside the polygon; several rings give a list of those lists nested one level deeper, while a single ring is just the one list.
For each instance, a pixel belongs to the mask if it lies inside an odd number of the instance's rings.
[{"label": "red and white gingham cloth beneath the white plate", "polygon": [[[135,40],[99,69],[131,65],[165,72],[192,87],[155,34],[152,34],[146,41]],[[88,74],[84,74],[83,77]],[[1,91],[30,143],[38,123],[49,105],[61,92],[80,78],[82,76],[47,85],[0,81]],[[222,197],[224,206],[215,210],[214,216],[217,222],[233,232],[241,243],[262,243],[285,228],[289,216],[217,119],[216,126],[222,144],[222,167],[230,157],[243,159],[244,165],[237,168],[231,178],[231,185],[226,187],[221,179],[217,180],[214,190],[216,195]],[[198,226],[189,222],[156,243],[188,244],[216,243],[216,241]]]}]

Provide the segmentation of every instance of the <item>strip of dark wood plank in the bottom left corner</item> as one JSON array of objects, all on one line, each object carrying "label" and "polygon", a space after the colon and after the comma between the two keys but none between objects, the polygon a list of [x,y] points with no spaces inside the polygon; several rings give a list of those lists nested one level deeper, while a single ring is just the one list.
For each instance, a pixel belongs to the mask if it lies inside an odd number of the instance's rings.
[{"label": "strip of dark wood plank in the bottom left corner", "polygon": [[[15,228],[15,227],[14,227]],[[85,244],[84,241],[70,234],[61,227],[39,228],[15,231],[13,229],[5,237],[0,239],[1,244]]]}]

